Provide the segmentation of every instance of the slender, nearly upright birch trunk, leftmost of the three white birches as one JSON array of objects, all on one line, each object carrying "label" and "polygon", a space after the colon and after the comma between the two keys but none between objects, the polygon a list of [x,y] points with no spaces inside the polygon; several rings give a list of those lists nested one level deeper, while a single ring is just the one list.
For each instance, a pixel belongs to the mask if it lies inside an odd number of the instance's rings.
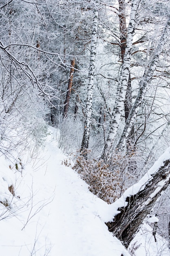
[{"label": "slender, nearly upright birch trunk, leftmost of the three white birches", "polygon": [[92,25],[92,38],[91,38],[91,56],[88,72],[88,88],[87,88],[87,100],[86,100],[86,117],[84,124],[84,135],[82,139],[82,145],[80,153],[87,158],[86,149],[88,149],[88,142],[90,136],[91,126],[91,114],[92,114],[92,101],[93,101],[93,83],[94,83],[94,70],[95,70],[95,57],[96,57],[96,44],[97,44],[97,25],[98,25],[98,10],[97,4],[93,11],[93,25]]}]

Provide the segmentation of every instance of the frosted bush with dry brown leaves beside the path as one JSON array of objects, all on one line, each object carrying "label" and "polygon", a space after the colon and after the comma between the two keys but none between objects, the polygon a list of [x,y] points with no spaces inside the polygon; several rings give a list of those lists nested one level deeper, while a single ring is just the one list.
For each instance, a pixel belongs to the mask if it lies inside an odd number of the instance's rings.
[{"label": "frosted bush with dry brown leaves beside the path", "polygon": [[80,155],[73,166],[90,191],[109,204],[121,196],[134,176],[128,168],[128,157],[117,154],[112,160],[109,165],[103,160],[86,160]]}]

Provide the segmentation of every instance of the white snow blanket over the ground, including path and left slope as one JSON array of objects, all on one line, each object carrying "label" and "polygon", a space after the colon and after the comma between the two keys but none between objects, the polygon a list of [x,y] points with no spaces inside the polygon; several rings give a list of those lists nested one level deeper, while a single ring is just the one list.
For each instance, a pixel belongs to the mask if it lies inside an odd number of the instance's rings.
[{"label": "white snow blanket over the ground, including path and left slope", "polygon": [[[15,162],[0,157],[0,201],[9,202],[9,207],[0,203],[0,256],[130,255],[104,224],[110,206],[62,164],[66,157],[57,148],[56,130],[49,129],[40,152],[34,155],[32,148],[18,156],[18,170]],[[135,239],[141,245],[133,255],[170,255],[166,242],[157,236],[155,243],[146,224]]]}]

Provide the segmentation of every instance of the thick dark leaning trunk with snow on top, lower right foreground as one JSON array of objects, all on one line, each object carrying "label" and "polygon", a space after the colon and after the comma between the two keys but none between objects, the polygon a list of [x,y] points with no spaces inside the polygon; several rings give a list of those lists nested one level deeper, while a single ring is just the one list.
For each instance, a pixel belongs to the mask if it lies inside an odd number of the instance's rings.
[{"label": "thick dark leaning trunk with snow on top, lower right foreground", "polygon": [[126,247],[169,183],[170,148],[159,157],[137,184],[127,189],[121,198],[110,205],[112,211],[117,210],[117,213],[106,225],[114,236],[124,242]]}]

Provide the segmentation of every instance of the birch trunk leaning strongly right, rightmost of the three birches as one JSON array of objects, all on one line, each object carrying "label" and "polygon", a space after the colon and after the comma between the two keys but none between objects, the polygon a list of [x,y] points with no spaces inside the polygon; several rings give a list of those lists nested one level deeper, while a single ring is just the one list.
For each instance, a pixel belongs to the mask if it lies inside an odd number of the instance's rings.
[{"label": "birch trunk leaning strongly right, rightmost of the three birches", "polygon": [[135,103],[133,104],[130,114],[128,116],[128,119],[126,121],[126,125],[124,127],[124,130],[121,134],[121,137],[119,138],[119,141],[117,143],[116,148],[119,151],[124,150],[124,146],[126,145],[126,139],[130,134],[131,128],[134,124],[135,117],[137,115],[137,112],[141,106],[141,103],[144,99],[144,95],[148,89],[149,83],[152,80],[153,73],[157,67],[157,63],[159,60],[159,55],[161,54],[163,47],[166,43],[166,40],[168,38],[168,34],[170,33],[170,18],[168,18],[168,21],[165,25],[165,28],[163,30],[163,34],[159,40],[159,43],[155,49],[155,52],[152,56],[152,60],[150,62],[150,66],[145,70],[144,76],[141,79],[141,82],[139,83],[139,92],[137,94],[137,98],[135,100]]}]

